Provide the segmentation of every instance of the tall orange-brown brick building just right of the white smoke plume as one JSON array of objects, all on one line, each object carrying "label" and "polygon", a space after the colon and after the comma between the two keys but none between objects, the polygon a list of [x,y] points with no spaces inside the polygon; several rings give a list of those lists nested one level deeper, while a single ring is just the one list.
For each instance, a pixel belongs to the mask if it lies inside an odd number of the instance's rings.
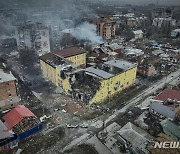
[{"label": "tall orange-brown brick building just right of the white smoke plume", "polygon": [[116,26],[115,22],[113,22],[109,18],[99,18],[91,21],[94,25],[96,25],[96,32],[98,35],[102,36],[104,39],[111,39],[115,36]]}]

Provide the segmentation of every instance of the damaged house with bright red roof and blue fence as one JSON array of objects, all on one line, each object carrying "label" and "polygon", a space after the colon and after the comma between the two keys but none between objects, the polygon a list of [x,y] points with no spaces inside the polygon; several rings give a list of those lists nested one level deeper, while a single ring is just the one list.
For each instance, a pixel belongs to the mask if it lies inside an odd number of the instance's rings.
[{"label": "damaged house with bright red roof and blue fence", "polygon": [[13,130],[18,138],[24,139],[42,129],[37,117],[24,105],[18,105],[3,116],[8,130]]}]

